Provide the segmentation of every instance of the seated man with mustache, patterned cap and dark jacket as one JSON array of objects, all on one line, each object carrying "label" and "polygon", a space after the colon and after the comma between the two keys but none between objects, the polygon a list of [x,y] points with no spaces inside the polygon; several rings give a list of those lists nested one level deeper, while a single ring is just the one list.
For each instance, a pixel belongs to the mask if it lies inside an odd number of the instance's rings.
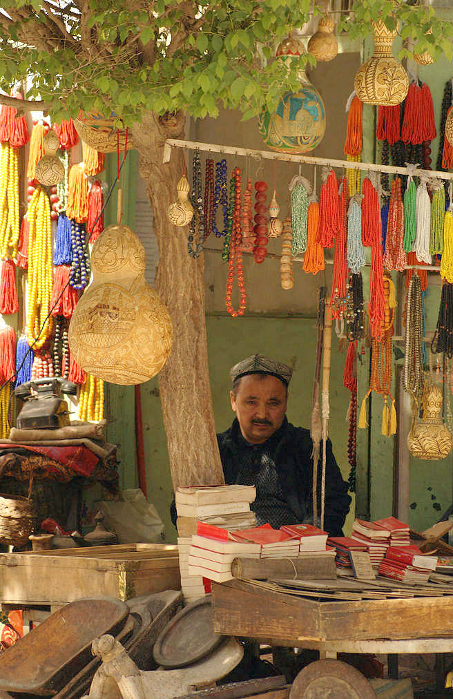
[{"label": "seated man with mustache, patterned cap and dark jacket", "polygon": [[[312,522],[312,440],[310,431],[294,427],[286,417],[292,369],[262,354],[243,359],[230,370],[230,398],[236,418],[217,440],[225,482],[254,485],[257,498],[250,506],[257,524]],[[320,491],[321,458],[318,465]],[[342,535],[351,498],[347,483],[326,445],[324,528]],[[320,495],[318,496],[318,513]]]}]

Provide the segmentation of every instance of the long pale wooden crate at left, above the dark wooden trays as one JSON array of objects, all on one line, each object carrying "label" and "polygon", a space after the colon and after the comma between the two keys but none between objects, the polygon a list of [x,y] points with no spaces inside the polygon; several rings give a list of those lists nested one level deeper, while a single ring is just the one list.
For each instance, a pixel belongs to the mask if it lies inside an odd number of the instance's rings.
[{"label": "long pale wooden crate at left, above the dark wooden trays", "polygon": [[178,547],[123,544],[0,554],[2,605],[67,604],[180,589]]}]

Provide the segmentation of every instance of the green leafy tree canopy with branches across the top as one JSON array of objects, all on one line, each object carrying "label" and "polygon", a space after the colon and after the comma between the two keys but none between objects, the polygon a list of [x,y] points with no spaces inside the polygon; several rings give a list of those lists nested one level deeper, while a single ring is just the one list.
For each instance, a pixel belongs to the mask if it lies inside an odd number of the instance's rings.
[{"label": "green leafy tree canopy with branches across the top", "polygon": [[[289,67],[273,57],[282,38],[324,8],[310,0],[3,0],[0,87],[32,76],[27,99],[49,102],[55,120],[80,108],[113,110],[125,124],[150,110],[216,117],[220,104],[250,118],[275,108],[315,62],[304,56]],[[429,6],[357,0],[339,29],[363,38],[379,16],[389,27],[398,22],[416,51],[451,57],[452,24]]]}]

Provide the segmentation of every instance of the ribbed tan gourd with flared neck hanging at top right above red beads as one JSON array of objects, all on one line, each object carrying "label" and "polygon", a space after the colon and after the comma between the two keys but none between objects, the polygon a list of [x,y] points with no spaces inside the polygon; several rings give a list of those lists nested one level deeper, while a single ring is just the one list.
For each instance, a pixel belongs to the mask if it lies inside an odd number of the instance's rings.
[{"label": "ribbed tan gourd with flared neck hanging at top right above red beads", "polygon": [[354,89],[362,102],[390,107],[408,94],[408,73],[391,52],[396,29],[387,29],[382,20],[372,24],[375,52],[357,71]]}]

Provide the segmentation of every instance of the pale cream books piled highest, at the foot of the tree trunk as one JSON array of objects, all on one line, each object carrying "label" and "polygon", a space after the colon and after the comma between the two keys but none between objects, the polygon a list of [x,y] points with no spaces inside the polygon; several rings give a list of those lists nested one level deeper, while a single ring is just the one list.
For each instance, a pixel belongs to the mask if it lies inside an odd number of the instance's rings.
[{"label": "pale cream books piled highest, at the foot of the tree trunk", "polygon": [[256,517],[250,503],[257,496],[253,485],[196,486],[177,488],[176,526],[182,537],[196,533],[196,522],[203,521],[229,531],[254,526]]}]

